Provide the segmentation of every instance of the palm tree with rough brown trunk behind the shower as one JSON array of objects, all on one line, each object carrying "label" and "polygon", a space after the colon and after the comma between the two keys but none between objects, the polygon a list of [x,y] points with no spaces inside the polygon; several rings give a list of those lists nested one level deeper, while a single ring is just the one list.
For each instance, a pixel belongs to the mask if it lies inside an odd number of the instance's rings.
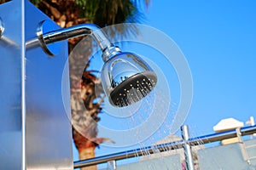
[{"label": "palm tree with rough brown trunk behind the shower", "polygon": [[[69,27],[82,23],[94,23],[98,26],[111,26],[123,22],[139,22],[143,14],[139,8],[148,7],[149,0],[31,0],[40,10],[47,14],[61,27]],[[140,6],[138,5],[140,4]],[[122,28],[118,34],[123,36],[127,28]],[[113,32],[110,32],[113,35]],[[114,37],[114,36],[113,36]],[[81,38],[68,40],[69,52],[77,45]],[[90,71],[89,63],[79,62],[78,59],[90,56],[92,42],[83,42],[86,50],[83,54],[74,54],[69,59],[71,82],[71,107],[73,117],[73,140],[79,150],[79,159],[95,157],[94,150],[98,144],[109,139],[97,138],[96,123],[102,111],[102,101],[97,99],[95,86],[99,86],[100,79]],[[86,57],[87,56],[87,57]],[[74,65],[75,62],[75,65]],[[79,65],[78,65],[79,64]],[[83,76],[80,76],[80,72]],[[101,91],[102,92],[102,91]],[[79,98],[82,98],[79,99]],[[96,103],[94,101],[97,101]],[[85,110],[83,109],[85,105]],[[84,127],[81,130],[77,127]],[[84,167],[83,170],[96,169],[96,166]]]}]

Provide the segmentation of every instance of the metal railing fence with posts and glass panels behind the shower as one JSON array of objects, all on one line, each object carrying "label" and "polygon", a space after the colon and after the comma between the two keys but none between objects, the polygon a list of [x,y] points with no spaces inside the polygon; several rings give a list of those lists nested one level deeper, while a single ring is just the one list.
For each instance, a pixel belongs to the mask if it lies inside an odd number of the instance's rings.
[{"label": "metal railing fence with posts and glass panels behind the shower", "polygon": [[[200,137],[196,137],[196,138],[189,138],[189,129],[186,125],[181,127],[181,130],[182,130],[183,139],[179,140],[179,141],[171,142],[171,143],[166,143],[166,144],[164,144],[165,147],[163,147],[163,144],[158,144],[158,145],[154,145],[154,146],[148,146],[148,147],[144,148],[143,150],[141,148],[138,148],[136,150],[126,150],[126,151],[122,151],[119,153],[114,153],[114,154],[110,154],[110,155],[106,155],[106,156],[98,156],[98,157],[87,159],[87,160],[74,161],[74,168],[88,167],[91,165],[108,162],[108,165],[112,166],[113,169],[116,169],[115,161],[118,161],[118,160],[124,160],[127,158],[136,157],[136,156],[144,156],[145,153],[154,154],[154,150],[156,150],[156,149],[159,150],[160,152],[164,152],[164,151],[166,151],[166,148],[168,148],[168,150],[176,150],[177,148],[183,148],[184,154],[185,154],[186,168],[189,170],[193,170],[193,169],[195,169],[195,167],[194,167],[195,163],[193,162],[193,156],[192,156],[192,151],[191,151],[192,145],[195,146],[195,145],[201,144],[201,143],[207,144],[207,143],[212,143],[212,142],[216,142],[216,141],[221,141],[223,139],[231,139],[231,138],[236,138],[236,137],[238,139],[238,143],[236,144],[236,146],[232,146],[232,147],[235,147],[236,149],[239,148],[239,150],[241,151],[241,156],[242,156],[240,158],[242,158],[242,160],[245,162],[246,165],[248,165],[248,166],[254,165],[254,161],[252,164],[251,160],[256,158],[256,151],[255,151],[255,153],[253,152],[255,156],[248,156],[248,150],[249,151],[252,150],[253,147],[256,150],[256,141],[255,140],[253,140],[253,142],[249,141],[250,144],[247,144],[249,146],[246,146],[245,142],[241,139],[241,136],[256,133],[256,126],[241,127],[241,128],[237,128],[235,130],[225,131],[222,133],[212,133],[212,134],[208,134],[208,135],[204,135],[204,136],[200,136]],[[199,143],[198,141],[201,141],[201,143]],[[248,142],[246,142],[246,143],[248,143]],[[253,144],[251,144],[251,143],[253,143]],[[230,145],[227,145],[227,146],[230,146]],[[217,148],[217,149],[219,151],[224,150],[223,148],[220,148],[220,149]],[[206,150],[209,150],[209,151],[206,152]],[[207,157],[206,153],[209,154],[211,152],[212,153],[217,152],[216,150],[211,150],[211,148],[206,149],[206,150],[199,151],[199,153],[198,153],[199,161],[201,160],[201,158],[203,158],[202,161],[207,162],[207,159],[205,159]],[[227,149],[226,151],[227,151],[226,154],[229,155],[229,150]],[[236,152],[237,152],[237,150],[236,150]],[[233,154],[233,156],[234,156],[234,154]],[[211,156],[209,156],[209,157],[211,157]],[[218,160],[216,160],[216,161],[218,161]],[[233,162],[234,161],[235,160],[233,160]],[[200,163],[200,164],[201,164],[201,169],[204,169],[204,167],[206,167],[205,169],[210,169],[209,167],[207,167],[207,165],[208,165],[207,163],[205,163],[205,164]],[[255,162],[255,165],[256,165],[256,162]]]}]

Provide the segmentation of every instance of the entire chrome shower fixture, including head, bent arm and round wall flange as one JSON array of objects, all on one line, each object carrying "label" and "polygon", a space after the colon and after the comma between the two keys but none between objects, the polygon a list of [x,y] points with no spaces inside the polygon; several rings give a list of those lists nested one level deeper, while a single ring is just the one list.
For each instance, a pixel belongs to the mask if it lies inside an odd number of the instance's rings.
[{"label": "entire chrome shower fixture, including head, bent arm and round wall flange", "polygon": [[[154,88],[157,77],[150,66],[137,54],[121,52],[109,42],[106,34],[92,24],[54,30],[51,22],[42,21],[38,27],[38,40],[44,51],[53,55],[48,44],[72,37],[92,36],[102,49],[102,86],[110,103],[117,107],[131,105],[143,99]],[[35,41],[31,41],[33,44]],[[32,46],[32,44],[26,44]]]}]

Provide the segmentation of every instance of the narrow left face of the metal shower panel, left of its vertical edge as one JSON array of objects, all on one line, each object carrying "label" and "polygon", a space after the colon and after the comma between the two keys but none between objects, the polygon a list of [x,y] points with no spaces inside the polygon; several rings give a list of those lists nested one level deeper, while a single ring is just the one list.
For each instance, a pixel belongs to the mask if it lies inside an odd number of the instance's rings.
[{"label": "narrow left face of the metal shower panel, left of its vertical edge", "polygon": [[22,169],[20,6],[19,1],[0,5],[0,169],[10,170]]}]

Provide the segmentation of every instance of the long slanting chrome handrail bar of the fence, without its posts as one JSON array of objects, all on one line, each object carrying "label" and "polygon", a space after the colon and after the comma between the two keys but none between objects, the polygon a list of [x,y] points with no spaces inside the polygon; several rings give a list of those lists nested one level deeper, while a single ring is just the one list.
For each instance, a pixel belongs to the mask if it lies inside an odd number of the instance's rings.
[{"label": "long slanting chrome handrail bar of the fence, without its posts", "polygon": [[[256,133],[256,125],[251,127],[241,127],[241,135],[249,135]],[[236,137],[236,129],[225,131],[222,133],[212,133],[196,138],[189,139],[187,143],[190,145],[198,145],[198,144],[207,144],[211,142],[220,141],[223,139],[230,139]],[[175,150],[178,148],[182,148],[184,144],[183,140],[179,140],[176,142],[170,142],[166,144],[157,144],[154,146],[148,146],[144,148],[138,148],[135,150],[126,150],[118,153],[109,154],[106,156],[97,156],[94,158],[81,160],[81,161],[74,161],[73,167],[79,168],[79,167],[88,167],[92,165],[97,165],[100,163],[106,163],[108,161],[117,161],[122,160],[126,158],[136,157],[136,156],[145,156],[147,154],[154,154],[155,150],[159,150],[160,152],[166,151],[166,150]]]}]

